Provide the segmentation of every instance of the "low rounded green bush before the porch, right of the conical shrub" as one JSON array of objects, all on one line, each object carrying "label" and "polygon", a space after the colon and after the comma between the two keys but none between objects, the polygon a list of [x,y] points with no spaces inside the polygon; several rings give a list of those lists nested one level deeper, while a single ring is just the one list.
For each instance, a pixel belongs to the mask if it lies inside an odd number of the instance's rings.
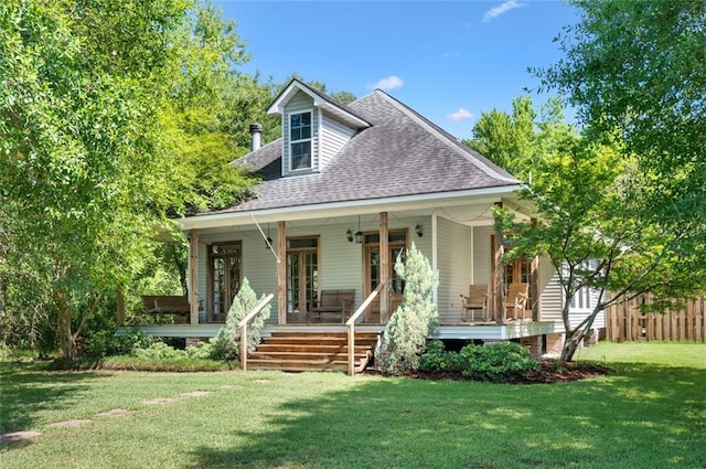
[{"label": "low rounded green bush before the porch, right of the conical shrub", "polygon": [[460,355],[463,376],[493,383],[506,383],[515,376],[527,376],[538,366],[530,350],[514,342],[466,345]]}]

